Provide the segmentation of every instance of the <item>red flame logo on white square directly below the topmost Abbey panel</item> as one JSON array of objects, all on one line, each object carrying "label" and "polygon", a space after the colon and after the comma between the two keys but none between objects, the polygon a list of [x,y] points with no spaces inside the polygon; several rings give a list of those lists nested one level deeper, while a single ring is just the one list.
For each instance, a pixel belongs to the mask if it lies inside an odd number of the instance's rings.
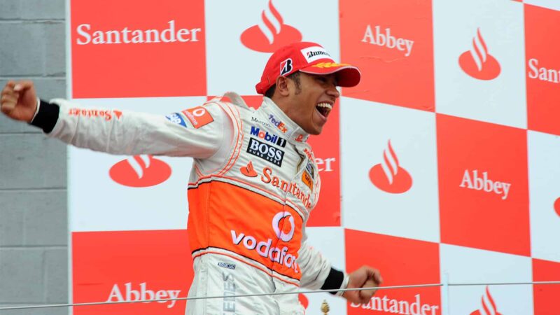
[{"label": "red flame logo on white square directly below the topmost Abbey panel", "polygon": [[387,149],[383,151],[383,162],[370,169],[370,180],[374,186],[387,193],[405,193],[412,187],[412,177],[400,167],[391,140],[388,141]]}]

